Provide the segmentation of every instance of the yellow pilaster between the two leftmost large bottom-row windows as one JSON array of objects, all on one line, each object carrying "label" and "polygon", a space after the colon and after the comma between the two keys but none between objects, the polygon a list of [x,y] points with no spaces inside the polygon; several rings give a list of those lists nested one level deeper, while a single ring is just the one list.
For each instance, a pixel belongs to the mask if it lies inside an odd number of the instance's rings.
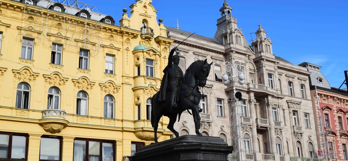
[{"label": "yellow pilaster between the two leftmost large bottom-row windows", "polygon": [[28,161],[39,160],[41,136],[41,134],[29,134]]}]

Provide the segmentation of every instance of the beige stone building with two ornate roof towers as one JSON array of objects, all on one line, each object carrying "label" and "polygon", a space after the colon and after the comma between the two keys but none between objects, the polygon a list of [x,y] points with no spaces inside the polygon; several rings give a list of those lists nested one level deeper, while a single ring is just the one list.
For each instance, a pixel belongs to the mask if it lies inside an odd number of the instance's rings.
[{"label": "beige stone building with two ornate roof towers", "polygon": [[[242,160],[315,158],[317,136],[309,92],[310,72],[275,56],[271,39],[261,24],[255,32],[256,39],[249,44],[231,11],[228,3],[223,3],[214,38],[193,34],[179,46],[183,68],[195,60],[213,61],[207,85],[201,89],[204,97],[200,102],[200,132],[237,145],[238,127]],[[178,27],[166,28],[168,37],[174,39],[171,47],[192,34]],[[238,111],[232,110],[232,102],[228,101],[234,97],[232,83],[226,87],[221,79],[226,61],[240,62],[242,68],[238,70],[245,75],[245,84],[236,83],[236,90],[243,95]],[[240,124],[236,124],[236,116]],[[176,127],[180,135],[195,135],[193,118],[187,112]],[[237,155],[229,159],[236,160]]]}]

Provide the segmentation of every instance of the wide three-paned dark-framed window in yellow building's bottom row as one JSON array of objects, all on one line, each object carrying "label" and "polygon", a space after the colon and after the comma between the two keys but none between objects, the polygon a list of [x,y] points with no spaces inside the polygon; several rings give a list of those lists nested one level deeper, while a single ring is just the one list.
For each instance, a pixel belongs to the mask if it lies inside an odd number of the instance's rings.
[{"label": "wide three-paned dark-framed window in yellow building's bottom row", "polygon": [[113,141],[89,140],[78,138],[74,140],[74,161],[114,161],[115,147]]}]

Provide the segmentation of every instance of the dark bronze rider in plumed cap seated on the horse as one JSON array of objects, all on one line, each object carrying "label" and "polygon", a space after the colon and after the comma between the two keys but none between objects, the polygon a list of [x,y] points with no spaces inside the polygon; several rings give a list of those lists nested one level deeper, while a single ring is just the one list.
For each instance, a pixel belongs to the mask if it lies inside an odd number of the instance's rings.
[{"label": "dark bronze rider in plumed cap seated on the horse", "polygon": [[167,65],[167,74],[168,74],[168,87],[171,90],[171,110],[173,107],[177,107],[176,101],[179,100],[180,97],[180,84],[183,79],[183,72],[181,68],[178,66],[180,57],[178,53],[173,55],[176,50],[176,47],[171,50],[168,57],[168,65]]}]

